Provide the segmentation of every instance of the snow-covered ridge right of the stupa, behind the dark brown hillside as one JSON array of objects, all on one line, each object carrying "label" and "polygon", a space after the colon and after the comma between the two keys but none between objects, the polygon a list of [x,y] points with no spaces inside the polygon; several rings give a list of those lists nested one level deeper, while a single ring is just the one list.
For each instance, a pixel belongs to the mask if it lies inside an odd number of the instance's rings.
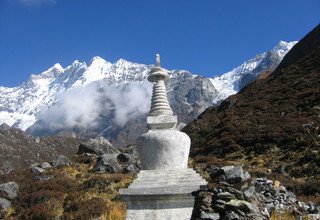
[{"label": "snow-covered ridge right of the stupa, behind the dark brown hillside", "polygon": [[219,91],[216,101],[226,99],[228,96],[237,93],[248,82],[266,70],[275,69],[297,42],[280,41],[273,49],[256,55],[230,72],[212,78],[212,84]]}]

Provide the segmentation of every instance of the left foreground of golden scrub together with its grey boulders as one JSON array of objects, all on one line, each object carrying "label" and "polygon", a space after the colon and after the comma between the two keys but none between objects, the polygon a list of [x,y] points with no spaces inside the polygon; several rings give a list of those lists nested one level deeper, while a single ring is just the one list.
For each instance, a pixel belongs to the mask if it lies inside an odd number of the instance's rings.
[{"label": "left foreground of golden scrub together with its grey boulders", "polygon": [[100,137],[70,159],[0,174],[0,218],[125,219],[118,189],[128,186],[139,164],[134,147],[116,149]]}]

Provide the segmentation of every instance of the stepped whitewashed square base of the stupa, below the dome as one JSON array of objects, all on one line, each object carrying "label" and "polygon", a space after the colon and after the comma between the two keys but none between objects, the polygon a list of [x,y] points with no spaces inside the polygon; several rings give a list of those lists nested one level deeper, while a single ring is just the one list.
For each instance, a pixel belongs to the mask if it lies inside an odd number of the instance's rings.
[{"label": "stepped whitewashed square base of the stupa, below the dome", "polygon": [[190,219],[193,191],[207,182],[192,169],[142,170],[120,195],[127,202],[127,220]]}]

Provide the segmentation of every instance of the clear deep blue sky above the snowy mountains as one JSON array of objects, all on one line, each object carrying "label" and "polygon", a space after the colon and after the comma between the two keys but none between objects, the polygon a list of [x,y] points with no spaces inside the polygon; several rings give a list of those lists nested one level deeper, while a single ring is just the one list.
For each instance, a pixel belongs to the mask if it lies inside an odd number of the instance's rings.
[{"label": "clear deep blue sky above the snowy mountains", "polygon": [[94,56],[213,76],[319,24],[319,0],[0,0],[0,86]]}]

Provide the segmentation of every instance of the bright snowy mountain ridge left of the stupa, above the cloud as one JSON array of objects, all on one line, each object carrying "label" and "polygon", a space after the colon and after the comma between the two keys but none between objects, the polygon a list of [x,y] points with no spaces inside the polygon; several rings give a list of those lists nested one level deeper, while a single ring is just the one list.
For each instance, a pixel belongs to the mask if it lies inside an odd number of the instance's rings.
[{"label": "bright snowy mountain ridge left of the stupa, above the cloud", "polygon": [[39,113],[48,109],[65,91],[102,79],[115,86],[130,81],[142,82],[149,69],[147,65],[123,59],[111,64],[100,57],[94,57],[89,65],[77,60],[66,68],[55,64],[39,75],[31,75],[18,87],[0,87],[0,123],[26,130],[35,123]]}]

